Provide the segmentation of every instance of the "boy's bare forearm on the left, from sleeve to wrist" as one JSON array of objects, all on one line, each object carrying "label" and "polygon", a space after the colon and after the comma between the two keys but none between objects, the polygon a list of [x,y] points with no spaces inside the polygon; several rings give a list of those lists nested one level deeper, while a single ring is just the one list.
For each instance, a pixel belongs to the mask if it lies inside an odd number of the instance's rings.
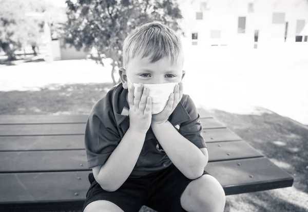
[{"label": "boy's bare forearm on the left, from sleeve to wrist", "polygon": [[93,176],[104,190],[114,192],[127,180],[136,165],[145,135],[128,129],[105,164],[93,167]]}]

